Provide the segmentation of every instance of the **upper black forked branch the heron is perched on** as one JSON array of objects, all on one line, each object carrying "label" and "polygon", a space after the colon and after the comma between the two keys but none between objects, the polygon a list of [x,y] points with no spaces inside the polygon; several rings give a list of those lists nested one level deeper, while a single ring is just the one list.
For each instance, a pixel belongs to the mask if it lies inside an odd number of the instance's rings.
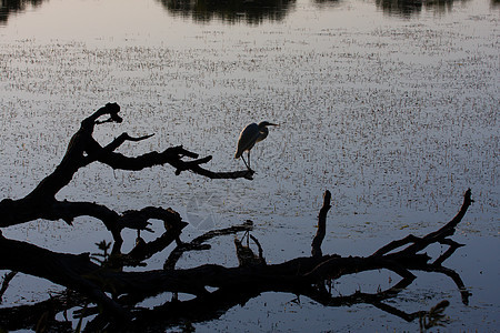
[{"label": "upper black forked branch the heron is perched on", "polygon": [[[100,220],[111,232],[119,248],[122,243],[121,231],[124,228],[144,230],[144,223],[138,223],[128,219],[107,206],[92,202],[69,202],[58,201],[56,194],[64,188],[73,178],[74,173],[92,162],[108,164],[112,169],[139,171],[154,165],[170,164],[176,169],[176,174],[182,171],[208,176],[211,179],[252,179],[253,172],[249,170],[233,172],[213,172],[201,167],[212,158],[198,159],[198,154],[190,152],[181,145],[166,149],[163,152],[149,152],[139,157],[130,158],[114,152],[127,141],[138,142],[147,140],[152,134],[134,138],[128,133],[122,133],[109,144],[102,147],[93,138],[96,125],[109,122],[121,123],[122,119],[118,114],[120,107],[117,103],[108,103],[97,110],[92,115],[81,122],[80,129],[71,138],[67,152],[56,170],[46,176],[38,186],[27,196],[18,200],[3,199],[0,202],[0,226],[10,226],[37,219],[50,221],[63,220],[71,224],[74,218],[88,215]],[[107,118],[99,120],[100,118]],[[184,161],[183,158],[191,158]],[[143,222],[143,221],[141,221]]]}]

